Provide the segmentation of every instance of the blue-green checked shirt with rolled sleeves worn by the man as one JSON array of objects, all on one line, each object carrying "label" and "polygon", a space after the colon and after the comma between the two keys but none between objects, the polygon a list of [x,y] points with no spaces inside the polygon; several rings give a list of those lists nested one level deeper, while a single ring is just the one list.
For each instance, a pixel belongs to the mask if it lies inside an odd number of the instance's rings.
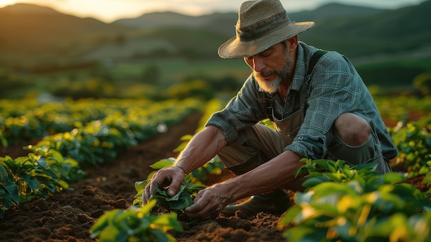
[{"label": "blue-green checked shirt with rolled sleeves worn by the man", "polygon": [[[240,130],[272,117],[267,110],[267,100],[272,100],[277,119],[290,116],[298,110],[300,103],[306,102],[304,123],[284,150],[309,159],[326,158],[335,119],[340,114],[352,112],[374,125],[383,157],[387,160],[395,158],[397,148],[390,140],[370,92],[350,61],[337,52],[328,52],[317,61],[310,79],[306,77],[308,62],[316,50],[298,42],[295,74],[284,101],[278,92],[269,94],[261,90],[251,74],[238,94],[222,111],[215,112],[206,126],[220,128],[229,145],[238,139]],[[308,97],[299,94],[302,88],[308,89]]]}]

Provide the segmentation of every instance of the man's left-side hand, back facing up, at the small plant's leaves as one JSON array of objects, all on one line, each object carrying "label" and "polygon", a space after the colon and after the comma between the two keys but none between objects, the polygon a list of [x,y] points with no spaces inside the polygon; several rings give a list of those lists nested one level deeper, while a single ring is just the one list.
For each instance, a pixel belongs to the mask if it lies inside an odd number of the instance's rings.
[{"label": "man's left-side hand, back facing up, at the small plant's leaves", "polygon": [[143,204],[147,204],[150,197],[156,194],[157,188],[160,186],[169,185],[167,193],[169,196],[174,196],[178,192],[178,188],[184,181],[185,171],[180,166],[171,166],[158,170],[153,178],[149,181],[142,195]]}]

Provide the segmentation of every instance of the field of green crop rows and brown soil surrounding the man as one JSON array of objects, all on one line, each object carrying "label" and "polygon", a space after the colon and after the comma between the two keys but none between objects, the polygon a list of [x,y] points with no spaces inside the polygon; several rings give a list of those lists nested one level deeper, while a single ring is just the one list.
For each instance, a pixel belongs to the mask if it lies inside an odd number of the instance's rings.
[{"label": "field of green crop rows and brown soil surrounding the man", "polygon": [[233,176],[217,157],[172,198],[140,194],[225,103],[0,100],[0,241],[431,241],[431,99],[375,101],[399,149],[392,174],[304,159],[307,190],[282,216],[191,221],[196,192]]}]

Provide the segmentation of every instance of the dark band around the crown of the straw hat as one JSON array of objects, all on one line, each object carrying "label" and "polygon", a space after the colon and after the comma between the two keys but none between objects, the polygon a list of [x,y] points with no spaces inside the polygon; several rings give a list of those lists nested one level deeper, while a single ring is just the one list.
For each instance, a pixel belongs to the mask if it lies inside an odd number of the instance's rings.
[{"label": "dark band around the crown of the straw hat", "polygon": [[286,11],[275,14],[269,19],[264,19],[263,21],[254,23],[251,26],[246,26],[244,28],[238,28],[236,30],[237,38],[240,41],[252,41],[260,37],[270,34],[277,28],[285,26],[291,23],[291,19],[288,18]]}]

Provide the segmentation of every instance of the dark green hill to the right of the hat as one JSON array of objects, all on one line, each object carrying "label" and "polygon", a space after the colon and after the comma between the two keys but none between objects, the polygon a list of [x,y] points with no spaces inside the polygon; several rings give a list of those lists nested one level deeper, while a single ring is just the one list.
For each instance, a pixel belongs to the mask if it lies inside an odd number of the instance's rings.
[{"label": "dark green hill to the right of the hat", "polygon": [[424,1],[361,17],[322,19],[301,38],[351,57],[417,52],[431,47],[430,12],[431,1]]}]

